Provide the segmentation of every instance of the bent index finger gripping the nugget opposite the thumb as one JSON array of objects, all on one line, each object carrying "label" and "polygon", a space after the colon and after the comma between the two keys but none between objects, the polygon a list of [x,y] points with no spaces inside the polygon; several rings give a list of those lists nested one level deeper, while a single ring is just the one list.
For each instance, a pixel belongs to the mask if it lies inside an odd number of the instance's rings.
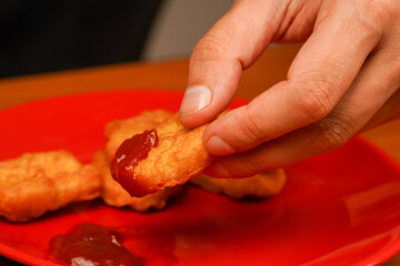
[{"label": "bent index finger gripping the nugget opposite the thumb", "polygon": [[211,154],[250,150],[319,121],[332,111],[379,41],[381,30],[354,19],[359,10],[348,7],[329,10],[331,13],[319,21],[294,59],[287,81],[208,126],[203,141]]}]

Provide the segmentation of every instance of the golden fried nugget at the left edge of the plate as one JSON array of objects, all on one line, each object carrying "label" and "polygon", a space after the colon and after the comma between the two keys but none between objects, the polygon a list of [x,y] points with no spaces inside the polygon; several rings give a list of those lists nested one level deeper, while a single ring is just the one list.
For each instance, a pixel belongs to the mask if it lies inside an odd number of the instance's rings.
[{"label": "golden fried nugget at the left edge of the plate", "polygon": [[101,180],[67,151],[26,153],[0,162],[0,215],[27,222],[68,203],[100,195]]}]

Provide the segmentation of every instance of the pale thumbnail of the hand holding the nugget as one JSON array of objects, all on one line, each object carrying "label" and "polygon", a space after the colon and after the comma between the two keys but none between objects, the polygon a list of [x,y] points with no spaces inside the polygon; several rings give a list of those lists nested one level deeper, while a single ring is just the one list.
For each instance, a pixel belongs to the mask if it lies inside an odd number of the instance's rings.
[{"label": "pale thumbnail of the hand holding the nugget", "polygon": [[188,88],[184,92],[180,115],[187,116],[199,112],[211,103],[211,91],[204,85]]}]

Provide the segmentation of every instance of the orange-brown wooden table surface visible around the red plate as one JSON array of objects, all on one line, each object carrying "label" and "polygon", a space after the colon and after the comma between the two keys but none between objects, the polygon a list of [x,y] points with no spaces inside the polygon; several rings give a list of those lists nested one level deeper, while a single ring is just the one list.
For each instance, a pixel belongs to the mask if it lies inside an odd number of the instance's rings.
[{"label": "orange-brown wooden table surface visible around the red plate", "polygon": [[[298,50],[299,47],[268,50],[251,69],[244,72],[237,95],[252,99],[274,83],[284,80]],[[0,110],[38,99],[80,92],[130,88],[182,91],[186,88],[187,75],[188,59],[181,59],[4,79],[0,81]],[[367,132],[363,136],[400,163],[400,120]],[[386,266],[394,265],[400,265],[400,254],[386,264]]]}]

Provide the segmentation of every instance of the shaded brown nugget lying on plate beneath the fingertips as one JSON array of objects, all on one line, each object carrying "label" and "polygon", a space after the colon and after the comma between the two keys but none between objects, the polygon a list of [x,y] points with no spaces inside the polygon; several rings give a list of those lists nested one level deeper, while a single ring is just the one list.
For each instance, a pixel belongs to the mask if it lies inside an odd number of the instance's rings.
[{"label": "shaded brown nugget lying on plate beneath the fingertips", "polygon": [[201,175],[190,181],[206,191],[240,200],[243,197],[269,197],[279,194],[287,177],[283,170],[274,170],[246,178],[214,178]]}]

